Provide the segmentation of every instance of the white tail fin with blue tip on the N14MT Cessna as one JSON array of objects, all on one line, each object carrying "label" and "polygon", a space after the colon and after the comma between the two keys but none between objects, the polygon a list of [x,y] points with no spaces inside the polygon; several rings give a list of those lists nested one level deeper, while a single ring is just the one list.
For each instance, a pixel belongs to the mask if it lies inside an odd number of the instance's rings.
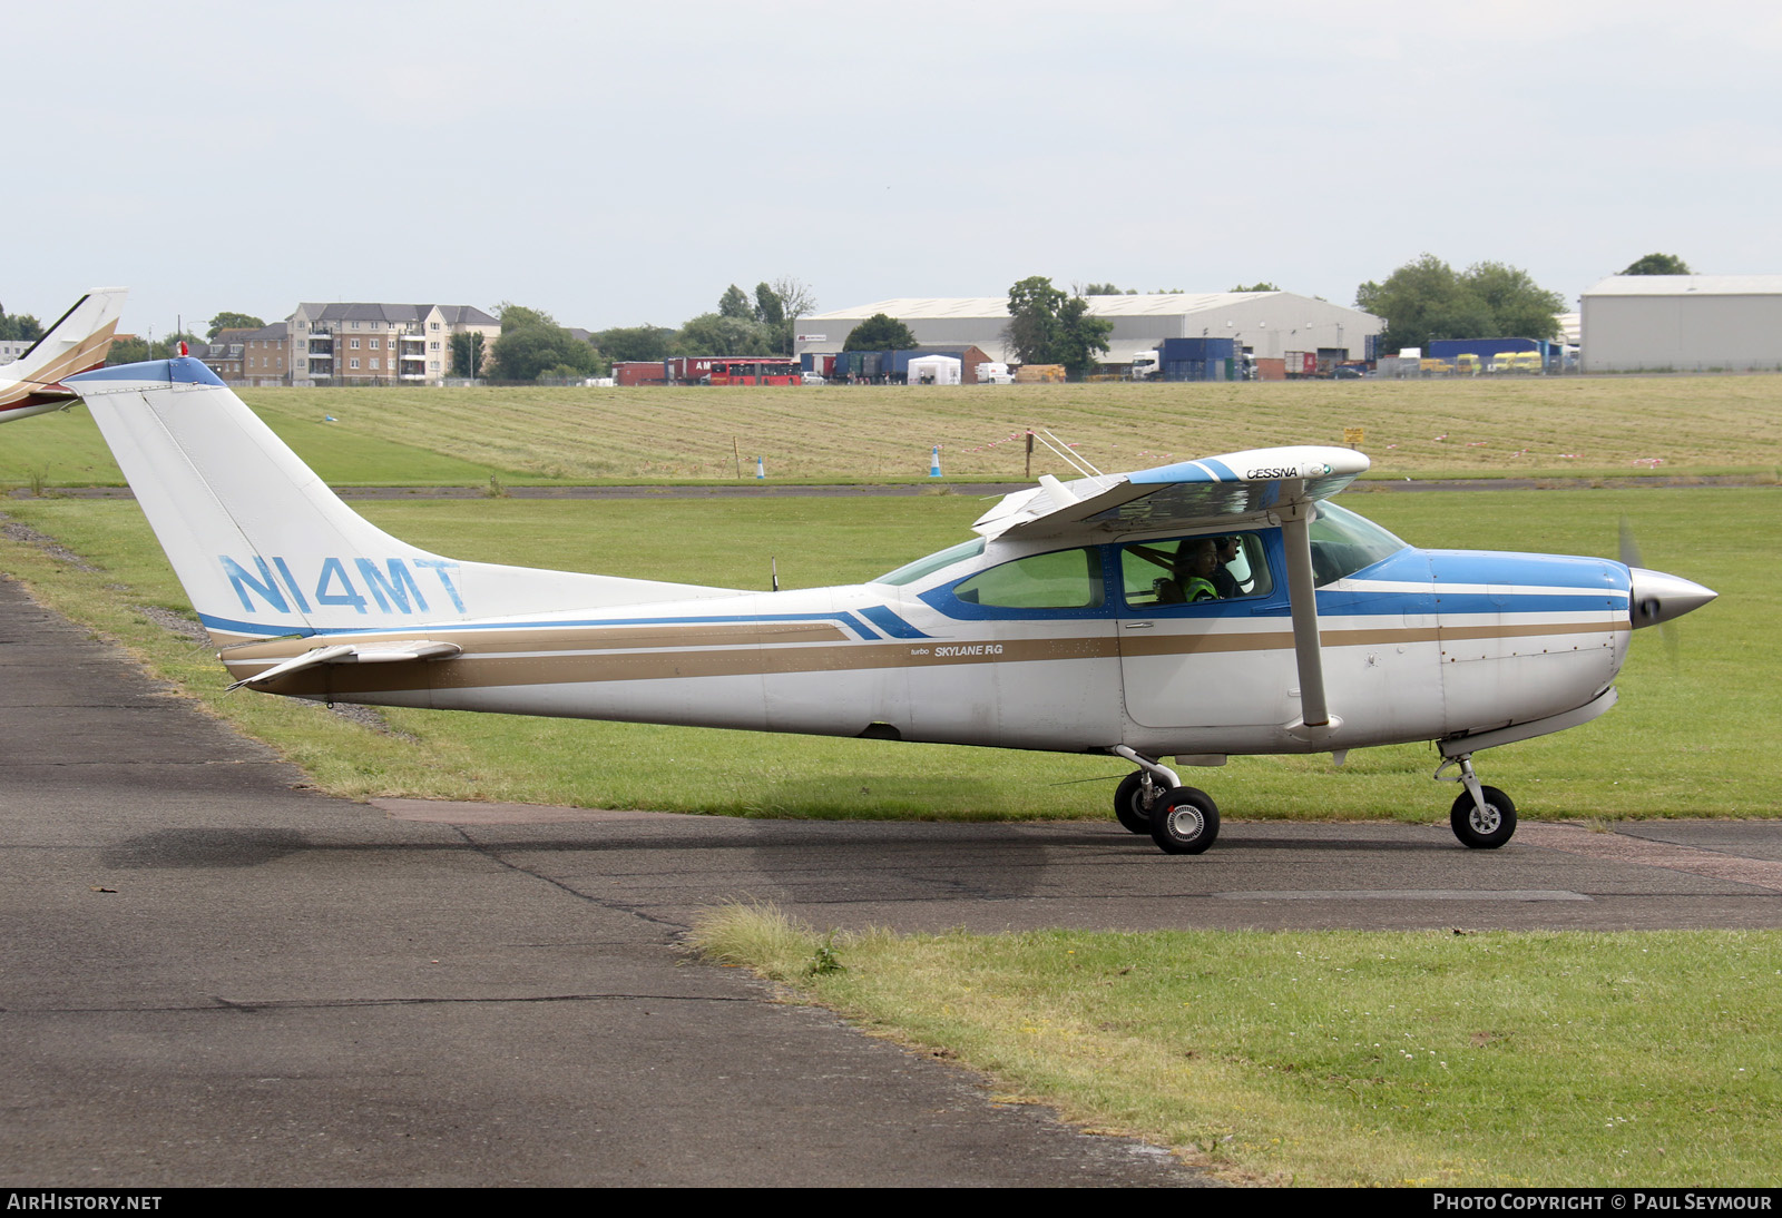
[{"label": "white tail fin with blue tip on the N14MT Cessna", "polygon": [[736,589],[458,563],[353,511],[200,360],[68,378],[219,645]]}]

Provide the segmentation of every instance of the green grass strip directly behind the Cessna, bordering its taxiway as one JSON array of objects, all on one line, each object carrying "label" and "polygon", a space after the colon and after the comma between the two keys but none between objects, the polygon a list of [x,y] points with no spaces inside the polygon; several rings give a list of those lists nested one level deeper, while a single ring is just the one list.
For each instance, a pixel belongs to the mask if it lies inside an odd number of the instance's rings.
[{"label": "green grass strip directly behind the Cessna, bordering its taxiway", "polygon": [[[1677,648],[1636,636],[1622,703],[1572,732],[1479,757],[1524,816],[1777,816],[1771,743],[1782,734],[1771,613],[1777,488],[1638,491],[1361,491],[1344,500],[1418,545],[1613,554],[1627,516],[1648,566],[1721,593],[1677,623]],[[964,497],[800,500],[376,500],[390,532],[463,559],[766,588],[855,582],[968,534]],[[223,694],[208,648],[169,639],[135,605],[185,607],[130,502],[11,500],[96,572],[30,545],[5,570],[62,613],[125,639],[217,714],[269,741],[346,796],[519,800],[732,816],[1041,819],[1108,814],[1123,762],[996,750],[388,710],[388,732],[312,703]],[[1340,712],[1342,691],[1333,698]],[[1228,817],[1440,821],[1454,787],[1429,782],[1427,744],[1233,759],[1190,771]]]}]

